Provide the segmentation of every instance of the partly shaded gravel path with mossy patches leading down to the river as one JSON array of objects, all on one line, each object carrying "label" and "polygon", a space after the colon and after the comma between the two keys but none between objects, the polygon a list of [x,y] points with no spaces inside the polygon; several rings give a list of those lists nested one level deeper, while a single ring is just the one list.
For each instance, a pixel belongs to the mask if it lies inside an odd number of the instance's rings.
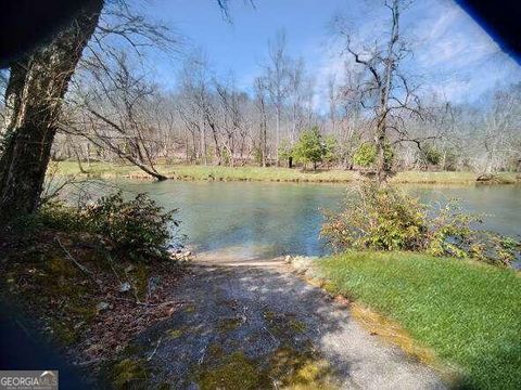
[{"label": "partly shaded gravel path with mossy patches leading down to the river", "polygon": [[134,346],[176,389],[440,389],[428,367],[370,336],[282,260],[198,261],[182,310]]}]

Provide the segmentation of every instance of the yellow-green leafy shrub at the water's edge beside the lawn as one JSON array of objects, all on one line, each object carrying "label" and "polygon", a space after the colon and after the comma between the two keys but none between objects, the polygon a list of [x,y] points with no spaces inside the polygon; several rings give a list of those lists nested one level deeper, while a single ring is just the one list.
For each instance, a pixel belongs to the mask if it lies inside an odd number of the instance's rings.
[{"label": "yellow-green leafy shrub at the water's edge beside the lawn", "polygon": [[510,264],[520,243],[472,229],[479,216],[462,212],[455,200],[440,210],[391,187],[363,183],[346,197],[341,212],[326,212],[321,236],[344,250],[414,250]]}]

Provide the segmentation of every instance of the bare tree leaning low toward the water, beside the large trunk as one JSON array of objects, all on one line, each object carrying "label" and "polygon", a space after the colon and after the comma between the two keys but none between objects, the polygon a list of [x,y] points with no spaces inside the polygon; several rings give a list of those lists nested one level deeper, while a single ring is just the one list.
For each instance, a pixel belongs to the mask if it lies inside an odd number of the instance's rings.
[{"label": "bare tree leaning low toward the water, beside the large trunk", "polygon": [[96,82],[87,78],[69,96],[69,115],[63,117],[62,131],[85,136],[153,178],[165,180],[154,167],[161,150],[158,129],[150,116],[154,87],[132,74],[124,53],[115,69],[96,68],[93,75]]}]

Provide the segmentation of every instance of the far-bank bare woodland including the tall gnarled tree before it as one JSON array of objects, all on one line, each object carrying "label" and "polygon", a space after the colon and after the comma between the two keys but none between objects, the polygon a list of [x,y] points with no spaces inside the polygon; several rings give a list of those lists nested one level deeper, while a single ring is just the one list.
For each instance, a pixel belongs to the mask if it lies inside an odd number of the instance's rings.
[{"label": "far-bank bare woodland including the tall gnarled tree before it", "polygon": [[[367,44],[345,21],[332,21],[341,50],[331,61],[344,65],[328,76],[312,74],[290,54],[291,37],[277,31],[244,88],[164,26],[118,12],[107,12],[79,60],[54,160],[123,160],[152,174],[158,162],[352,169],[371,168],[385,150],[395,171],[519,170],[521,84],[506,80],[450,101],[415,73],[407,30],[395,42],[384,34]],[[151,72],[151,51],[185,52],[171,69],[174,87]]]}]

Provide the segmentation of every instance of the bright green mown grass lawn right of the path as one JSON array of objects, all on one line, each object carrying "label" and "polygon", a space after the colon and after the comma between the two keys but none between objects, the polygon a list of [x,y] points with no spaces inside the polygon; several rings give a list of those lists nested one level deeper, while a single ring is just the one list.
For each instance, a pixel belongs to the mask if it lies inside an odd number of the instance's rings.
[{"label": "bright green mown grass lawn right of the path", "polygon": [[521,389],[521,278],[512,270],[408,252],[318,262],[330,287],[399,323],[472,389]]}]

